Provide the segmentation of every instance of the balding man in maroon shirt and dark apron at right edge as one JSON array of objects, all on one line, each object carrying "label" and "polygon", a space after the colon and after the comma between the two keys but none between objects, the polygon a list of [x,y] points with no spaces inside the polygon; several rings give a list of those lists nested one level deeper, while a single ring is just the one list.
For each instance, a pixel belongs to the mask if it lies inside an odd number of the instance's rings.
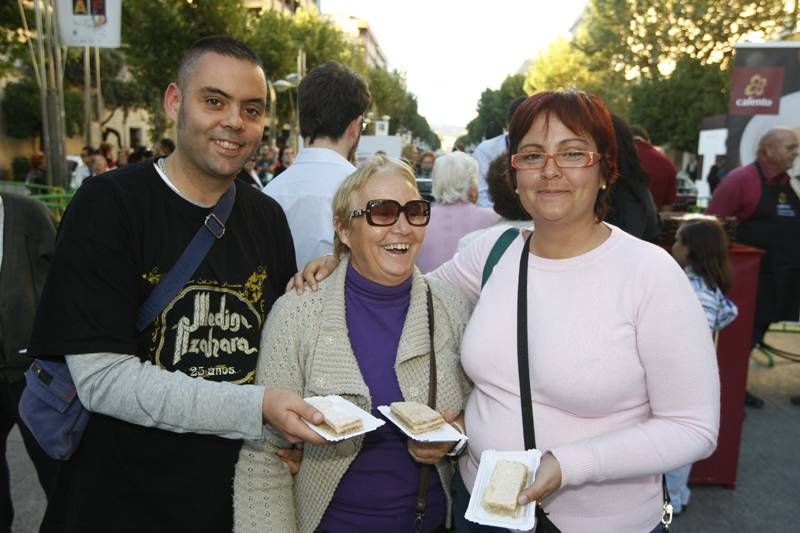
[{"label": "balding man in maroon shirt and dark apron at right edge", "polygon": [[[788,128],[773,128],[758,142],[756,160],[729,172],[714,191],[707,212],[735,216],[736,241],[760,248],[753,346],[773,322],[797,320],[800,312],[800,199],[787,171],[800,143]],[[751,407],[763,401],[748,393]]]}]

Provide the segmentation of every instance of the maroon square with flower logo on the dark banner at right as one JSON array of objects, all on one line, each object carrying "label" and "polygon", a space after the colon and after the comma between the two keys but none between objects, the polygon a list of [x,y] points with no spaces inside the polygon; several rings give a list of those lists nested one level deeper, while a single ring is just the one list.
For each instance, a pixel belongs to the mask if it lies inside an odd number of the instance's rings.
[{"label": "maroon square with flower logo on the dark banner at right", "polygon": [[783,94],[783,67],[734,67],[731,115],[777,115]]}]

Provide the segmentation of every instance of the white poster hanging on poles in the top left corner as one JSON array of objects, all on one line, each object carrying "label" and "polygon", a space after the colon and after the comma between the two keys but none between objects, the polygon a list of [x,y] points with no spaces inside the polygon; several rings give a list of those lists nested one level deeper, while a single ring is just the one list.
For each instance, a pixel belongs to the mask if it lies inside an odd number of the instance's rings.
[{"label": "white poster hanging on poles in the top left corner", "polygon": [[119,48],[122,0],[57,0],[56,17],[65,46]]}]

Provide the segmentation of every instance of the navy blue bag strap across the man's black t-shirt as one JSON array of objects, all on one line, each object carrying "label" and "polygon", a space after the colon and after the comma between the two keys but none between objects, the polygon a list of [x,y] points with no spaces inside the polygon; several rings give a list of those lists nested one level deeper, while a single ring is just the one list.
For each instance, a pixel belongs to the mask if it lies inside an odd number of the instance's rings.
[{"label": "navy blue bag strap across the man's black t-shirt", "polygon": [[147,300],[139,308],[139,318],[136,320],[136,330],[144,329],[155,320],[158,314],[167,306],[178,292],[186,285],[197,267],[208,255],[208,251],[217,239],[225,235],[225,223],[231,214],[236,201],[236,182],[231,183],[228,190],[217,202],[203,221],[203,225],[186,245],[186,249],[172,265],[169,272],[156,285]]}]

